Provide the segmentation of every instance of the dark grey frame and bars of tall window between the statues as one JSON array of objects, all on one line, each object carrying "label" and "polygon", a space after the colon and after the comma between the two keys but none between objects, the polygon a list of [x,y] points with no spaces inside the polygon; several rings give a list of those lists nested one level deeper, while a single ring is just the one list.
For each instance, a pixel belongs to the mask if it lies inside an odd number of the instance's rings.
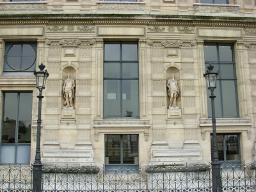
[{"label": "dark grey frame and bars of tall window between the statues", "polygon": [[[106,60],[105,58],[105,50],[106,50],[106,45],[107,44],[119,44],[120,45],[120,60]],[[137,60],[122,60],[122,45],[124,44],[136,44],[137,45]],[[104,86],[104,82],[105,80],[110,80],[110,81],[114,81],[114,80],[118,80],[118,82],[120,82],[120,114],[119,116],[113,116],[113,117],[107,117],[105,116],[105,113],[104,113],[104,104],[103,104],[103,117],[104,118],[140,118],[140,63],[139,63],[139,47],[138,47],[138,42],[135,42],[135,41],[107,41],[107,42],[104,42],[104,58],[103,58],[103,86]],[[104,72],[105,72],[105,68],[106,68],[106,65],[105,63],[120,63],[120,77],[105,77],[104,75]],[[137,68],[137,72],[138,72],[138,77],[122,77],[122,67],[123,67],[123,63],[138,63],[138,68]],[[124,82],[125,80],[136,80],[138,82],[138,117],[136,116],[125,116],[125,114],[122,114],[122,82]],[[104,96],[104,89],[103,88],[103,102],[105,100],[105,96]]]}]

